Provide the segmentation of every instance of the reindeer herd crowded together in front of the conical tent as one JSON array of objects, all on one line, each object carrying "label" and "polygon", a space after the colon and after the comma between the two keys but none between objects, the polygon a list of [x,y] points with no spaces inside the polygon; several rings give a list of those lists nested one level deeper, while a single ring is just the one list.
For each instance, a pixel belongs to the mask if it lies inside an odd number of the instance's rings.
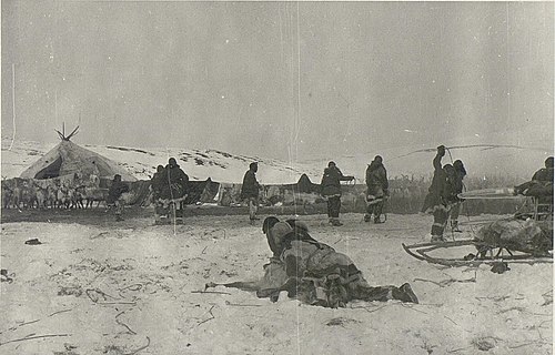
[{"label": "reindeer herd crowded together in front of the conical tent", "polygon": [[105,207],[108,189],[99,187],[98,178],[88,181],[9,179],[2,181],[3,209],[89,209]]}]

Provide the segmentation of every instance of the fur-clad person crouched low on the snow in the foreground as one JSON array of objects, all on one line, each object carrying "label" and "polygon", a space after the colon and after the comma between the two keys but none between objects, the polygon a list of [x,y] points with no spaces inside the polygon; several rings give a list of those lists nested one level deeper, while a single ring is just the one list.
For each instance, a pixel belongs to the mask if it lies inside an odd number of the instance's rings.
[{"label": "fur-clad person crouched low on the snow in the foreground", "polygon": [[[246,291],[256,291],[259,297],[278,301],[281,291],[303,303],[324,307],[344,307],[353,300],[418,303],[411,285],[370,286],[362,272],[345,254],[320,243],[303,222],[281,222],[271,216],[264,220],[262,231],[273,252],[264,265],[264,277],[259,282],[224,284]],[[206,287],[216,286],[209,283]]]}]

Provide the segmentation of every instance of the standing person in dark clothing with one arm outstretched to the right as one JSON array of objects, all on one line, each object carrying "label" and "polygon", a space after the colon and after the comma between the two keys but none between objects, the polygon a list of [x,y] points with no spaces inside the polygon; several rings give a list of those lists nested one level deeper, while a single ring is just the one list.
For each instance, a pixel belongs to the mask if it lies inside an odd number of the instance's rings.
[{"label": "standing person in dark clothing with one arm outstretched to the right", "polygon": [[345,176],[334,162],[327,163],[322,176],[322,196],[327,200],[327,217],[334,226],[343,225],[340,221],[341,182],[352,181],[354,176]]}]

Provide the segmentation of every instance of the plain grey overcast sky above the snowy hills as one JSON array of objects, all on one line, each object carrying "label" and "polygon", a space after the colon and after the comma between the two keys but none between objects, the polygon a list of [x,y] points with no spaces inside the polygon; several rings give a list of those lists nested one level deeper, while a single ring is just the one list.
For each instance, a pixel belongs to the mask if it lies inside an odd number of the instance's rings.
[{"label": "plain grey overcast sky above the snowy hills", "polygon": [[283,160],[552,149],[553,2],[2,1],[2,135]]}]

